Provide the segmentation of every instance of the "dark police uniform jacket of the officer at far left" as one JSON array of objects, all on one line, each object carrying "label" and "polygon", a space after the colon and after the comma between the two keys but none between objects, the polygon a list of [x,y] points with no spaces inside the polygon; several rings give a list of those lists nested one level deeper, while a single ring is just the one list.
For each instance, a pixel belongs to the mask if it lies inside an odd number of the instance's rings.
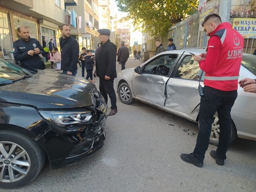
[{"label": "dark police uniform jacket of the officer at far left", "polygon": [[41,55],[44,57],[47,53],[44,52],[43,47],[40,45],[39,41],[29,37],[28,41],[19,39],[14,41],[14,58],[16,61],[20,62],[21,67],[33,70],[33,69],[45,69],[45,64],[41,61],[39,54],[34,54],[33,56],[27,55],[29,50],[34,50],[39,48]]}]

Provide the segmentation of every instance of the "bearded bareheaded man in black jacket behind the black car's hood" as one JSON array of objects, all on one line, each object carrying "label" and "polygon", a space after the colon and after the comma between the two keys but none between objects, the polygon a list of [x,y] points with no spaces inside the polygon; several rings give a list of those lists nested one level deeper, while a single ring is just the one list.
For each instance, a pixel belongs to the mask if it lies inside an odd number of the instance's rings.
[{"label": "bearded bareheaded man in black jacket behind the black car's hood", "polygon": [[76,75],[78,73],[79,44],[70,36],[69,25],[61,26],[62,37],[59,38],[61,45],[61,70],[64,74]]}]

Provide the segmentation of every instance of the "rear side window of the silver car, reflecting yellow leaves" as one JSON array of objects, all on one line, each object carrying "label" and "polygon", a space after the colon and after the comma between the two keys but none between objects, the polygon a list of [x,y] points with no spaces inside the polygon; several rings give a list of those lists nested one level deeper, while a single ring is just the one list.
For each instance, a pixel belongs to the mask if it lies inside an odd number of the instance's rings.
[{"label": "rear side window of the silver car, reflecting yellow leaves", "polygon": [[202,70],[199,64],[190,55],[185,56],[176,71],[175,77],[189,80],[199,80]]}]

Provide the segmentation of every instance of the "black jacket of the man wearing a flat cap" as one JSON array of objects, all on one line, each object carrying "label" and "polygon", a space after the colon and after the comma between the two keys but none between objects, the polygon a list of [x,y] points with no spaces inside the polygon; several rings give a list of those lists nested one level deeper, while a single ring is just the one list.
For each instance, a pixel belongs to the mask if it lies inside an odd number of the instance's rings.
[{"label": "black jacket of the man wearing a flat cap", "polygon": [[96,58],[97,76],[105,78],[109,76],[111,79],[117,77],[116,74],[116,45],[107,40],[106,43],[101,44]]}]

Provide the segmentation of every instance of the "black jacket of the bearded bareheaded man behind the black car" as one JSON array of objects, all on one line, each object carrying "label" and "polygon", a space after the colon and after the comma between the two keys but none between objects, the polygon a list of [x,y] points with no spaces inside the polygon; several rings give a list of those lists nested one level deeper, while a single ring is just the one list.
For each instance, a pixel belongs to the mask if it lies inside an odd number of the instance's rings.
[{"label": "black jacket of the bearded bareheaded man behind the black car", "polygon": [[78,70],[79,44],[78,41],[70,36],[69,38],[59,38],[61,45],[61,70],[74,73]]}]

